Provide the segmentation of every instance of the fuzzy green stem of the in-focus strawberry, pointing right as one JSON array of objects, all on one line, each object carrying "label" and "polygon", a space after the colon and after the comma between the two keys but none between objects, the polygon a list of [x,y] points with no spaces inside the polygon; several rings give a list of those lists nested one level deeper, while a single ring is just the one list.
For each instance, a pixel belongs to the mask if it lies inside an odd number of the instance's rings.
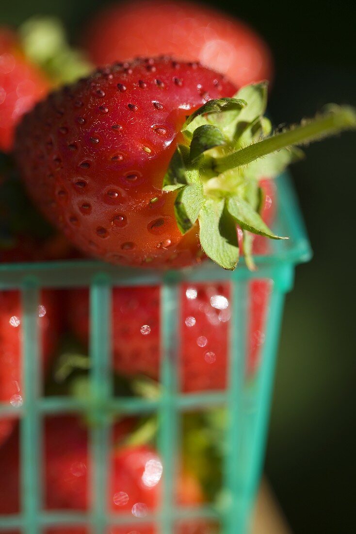
[{"label": "fuzzy green stem of the in-focus strawberry, pointing right", "polygon": [[349,106],[333,105],[324,115],[216,159],[215,168],[218,172],[224,172],[247,165],[281,148],[309,143],[349,129],[356,129],[355,109]]}]

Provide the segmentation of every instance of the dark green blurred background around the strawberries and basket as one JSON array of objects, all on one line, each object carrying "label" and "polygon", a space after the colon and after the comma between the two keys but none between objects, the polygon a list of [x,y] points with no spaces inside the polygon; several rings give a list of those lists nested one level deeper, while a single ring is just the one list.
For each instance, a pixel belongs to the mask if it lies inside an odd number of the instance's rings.
[{"label": "dark green blurred background around the strawberries and basket", "polygon": [[[105,2],[2,0],[0,20],[56,14],[73,41]],[[216,2],[270,44],[276,124],[312,115],[329,101],[356,105],[353,2]],[[236,6],[236,4],[239,4]],[[276,374],[266,470],[297,534],[356,531],[354,521],[356,136],[307,149],[292,169],[314,249],[288,296]]]}]

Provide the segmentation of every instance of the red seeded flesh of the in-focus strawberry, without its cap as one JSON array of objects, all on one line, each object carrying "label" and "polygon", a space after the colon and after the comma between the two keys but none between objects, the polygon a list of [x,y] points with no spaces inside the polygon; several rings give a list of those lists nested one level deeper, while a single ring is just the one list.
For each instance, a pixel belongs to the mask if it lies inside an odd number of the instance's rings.
[{"label": "red seeded flesh of the in-focus strawberry, without its cap", "polygon": [[26,115],[16,158],[43,213],[84,253],[113,263],[201,261],[197,228],[178,229],[161,190],[187,114],[235,93],[223,76],[169,58],[116,64],[53,93]]}]

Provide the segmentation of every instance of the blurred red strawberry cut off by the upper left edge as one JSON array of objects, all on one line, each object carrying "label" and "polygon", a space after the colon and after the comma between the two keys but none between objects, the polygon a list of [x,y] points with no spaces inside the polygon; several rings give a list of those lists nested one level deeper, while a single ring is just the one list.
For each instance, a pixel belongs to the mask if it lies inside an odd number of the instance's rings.
[{"label": "blurred red strawberry cut off by the upper left edge", "polygon": [[16,124],[49,88],[45,76],[23,56],[15,34],[0,28],[0,150],[12,150]]}]

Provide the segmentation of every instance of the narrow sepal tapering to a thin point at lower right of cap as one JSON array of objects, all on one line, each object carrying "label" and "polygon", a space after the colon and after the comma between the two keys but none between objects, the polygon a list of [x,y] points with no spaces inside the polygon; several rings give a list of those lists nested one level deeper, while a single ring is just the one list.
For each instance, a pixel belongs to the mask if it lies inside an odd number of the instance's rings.
[{"label": "narrow sepal tapering to a thin point at lower right of cap", "polygon": [[243,200],[237,195],[227,199],[226,207],[228,212],[234,217],[236,223],[238,223],[243,230],[264,235],[271,239],[288,239],[275,235],[249,202],[246,202],[246,200]]}]

